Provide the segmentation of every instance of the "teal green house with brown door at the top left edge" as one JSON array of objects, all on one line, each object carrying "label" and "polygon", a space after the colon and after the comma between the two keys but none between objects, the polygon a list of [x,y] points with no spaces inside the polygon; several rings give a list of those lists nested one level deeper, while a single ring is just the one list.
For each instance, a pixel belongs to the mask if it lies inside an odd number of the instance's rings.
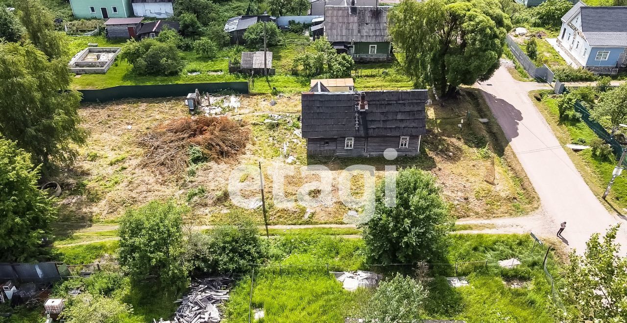
[{"label": "teal green house with brown door at the top left edge", "polygon": [[129,18],[133,16],[130,0],[70,0],[78,19]]}]

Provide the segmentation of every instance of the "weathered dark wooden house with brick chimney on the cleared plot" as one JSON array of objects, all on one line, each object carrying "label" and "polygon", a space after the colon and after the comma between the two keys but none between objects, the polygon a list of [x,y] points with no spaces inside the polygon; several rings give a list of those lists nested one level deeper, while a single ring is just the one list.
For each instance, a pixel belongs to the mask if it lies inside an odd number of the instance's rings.
[{"label": "weathered dark wooden house with brick chimney on the cleared plot", "polygon": [[[316,88],[312,88],[316,90]],[[308,156],[418,155],[426,134],[426,90],[303,92]]]}]

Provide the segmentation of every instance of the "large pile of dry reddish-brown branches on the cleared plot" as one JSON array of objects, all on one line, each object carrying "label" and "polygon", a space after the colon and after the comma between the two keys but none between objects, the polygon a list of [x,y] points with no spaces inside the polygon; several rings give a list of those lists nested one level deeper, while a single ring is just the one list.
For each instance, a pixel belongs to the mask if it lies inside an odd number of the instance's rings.
[{"label": "large pile of dry reddish-brown branches on the cleared plot", "polygon": [[209,160],[238,155],[245,148],[250,130],[245,121],[226,116],[184,117],[166,121],[139,139],[148,149],[144,163],[180,171],[189,163],[189,147],[196,146]]}]

